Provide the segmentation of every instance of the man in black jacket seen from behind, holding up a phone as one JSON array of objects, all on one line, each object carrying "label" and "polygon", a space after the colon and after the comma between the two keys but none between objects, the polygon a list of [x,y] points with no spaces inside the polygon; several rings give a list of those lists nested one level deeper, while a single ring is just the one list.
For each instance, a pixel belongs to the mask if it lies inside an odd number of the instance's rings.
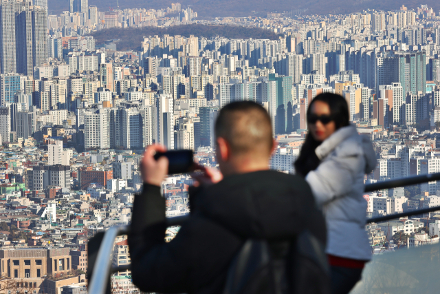
[{"label": "man in black jacket seen from behind, holding up a phone", "polygon": [[190,190],[190,218],[169,243],[161,196],[168,161],[153,158],[165,150],[155,145],[144,153],[144,187],[129,235],[131,273],[141,291],[222,293],[234,254],[250,238],[290,240],[307,229],[325,244],[325,220],[307,182],[269,170],[276,143],[265,109],[249,101],[226,105],[215,132],[222,175],[202,168],[199,187]]}]

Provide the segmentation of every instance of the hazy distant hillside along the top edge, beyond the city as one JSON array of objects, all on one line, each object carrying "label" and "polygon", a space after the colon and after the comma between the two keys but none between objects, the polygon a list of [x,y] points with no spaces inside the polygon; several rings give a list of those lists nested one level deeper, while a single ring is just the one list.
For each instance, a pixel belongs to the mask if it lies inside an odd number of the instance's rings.
[{"label": "hazy distant hillside along the top edge, beyond the city", "polygon": [[[177,0],[118,0],[121,9],[124,8],[166,8]],[[420,4],[439,11],[440,1],[425,0],[423,3],[415,0],[380,1],[380,0],[181,0],[182,7],[188,5],[199,13],[199,17],[248,17],[264,15],[265,12],[307,9],[307,14],[336,14],[360,12],[366,9],[397,10],[404,4],[408,8],[416,8]],[[48,0],[50,13],[60,13],[68,9],[67,0]],[[98,6],[101,11],[115,9],[116,0],[89,0],[89,5]]]}]

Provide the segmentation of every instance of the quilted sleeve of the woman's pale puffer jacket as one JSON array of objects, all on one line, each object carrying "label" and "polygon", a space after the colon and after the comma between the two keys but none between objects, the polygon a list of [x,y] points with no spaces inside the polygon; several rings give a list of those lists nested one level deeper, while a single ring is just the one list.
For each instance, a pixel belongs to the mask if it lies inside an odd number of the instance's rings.
[{"label": "quilted sleeve of the woman's pale puffer jacket", "polygon": [[[351,146],[354,147],[355,146]],[[349,146],[323,160],[318,169],[310,171],[306,180],[313,191],[318,207],[335,198],[351,193],[359,174],[364,174],[365,158],[362,152]]]}]

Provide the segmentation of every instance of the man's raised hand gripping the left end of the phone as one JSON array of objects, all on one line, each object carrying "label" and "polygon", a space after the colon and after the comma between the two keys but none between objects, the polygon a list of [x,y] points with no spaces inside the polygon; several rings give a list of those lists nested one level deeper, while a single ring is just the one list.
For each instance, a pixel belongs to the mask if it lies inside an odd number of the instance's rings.
[{"label": "man's raised hand gripping the left end of the phone", "polygon": [[142,180],[150,185],[160,186],[168,174],[168,158],[161,156],[155,160],[156,152],[165,152],[166,148],[161,145],[148,146],[144,152],[144,157],[140,162],[140,172]]}]

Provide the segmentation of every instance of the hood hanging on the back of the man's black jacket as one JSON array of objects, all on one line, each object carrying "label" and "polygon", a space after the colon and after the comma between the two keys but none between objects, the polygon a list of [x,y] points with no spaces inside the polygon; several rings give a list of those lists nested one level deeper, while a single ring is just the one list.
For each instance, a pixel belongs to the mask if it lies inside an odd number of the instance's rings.
[{"label": "hood hanging on the back of the man's black jacket", "polygon": [[[309,185],[299,176],[270,170],[238,174],[200,193],[203,196],[195,195],[195,199],[190,195],[195,205],[191,203],[191,210],[243,238],[291,238],[305,227],[314,231],[314,222],[324,223]],[[312,233],[325,243],[322,231],[316,228]]]}]

